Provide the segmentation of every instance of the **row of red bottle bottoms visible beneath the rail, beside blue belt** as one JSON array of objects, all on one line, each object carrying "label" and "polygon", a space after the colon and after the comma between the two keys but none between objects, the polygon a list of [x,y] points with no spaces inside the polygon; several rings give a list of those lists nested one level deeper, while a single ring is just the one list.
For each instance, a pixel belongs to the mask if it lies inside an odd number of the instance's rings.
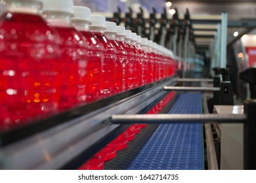
[{"label": "row of red bottle bottoms visible beneath the rail, beside blue belt", "polygon": [[[168,93],[157,105],[152,107],[147,114],[158,114],[174,97],[175,92]],[[83,163],[80,170],[100,170],[104,169],[104,162],[116,158],[117,151],[125,149],[129,141],[135,138],[140,129],[146,127],[146,124],[131,125],[121,135],[116,137],[112,142],[107,144],[102,150],[97,152],[91,159]],[[132,134],[132,135],[131,135]],[[119,152],[121,153],[121,152]]]}]

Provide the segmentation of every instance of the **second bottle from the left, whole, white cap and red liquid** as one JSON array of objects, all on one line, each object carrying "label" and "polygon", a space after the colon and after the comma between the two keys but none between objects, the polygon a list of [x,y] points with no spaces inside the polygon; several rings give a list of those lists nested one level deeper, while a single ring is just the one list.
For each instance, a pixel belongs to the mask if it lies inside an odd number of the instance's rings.
[{"label": "second bottle from the left, whole, white cap and red liquid", "polygon": [[43,0],[43,16],[62,38],[62,60],[59,63],[62,71],[60,110],[67,110],[86,101],[88,45],[83,35],[71,24],[73,7],[72,0]]}]

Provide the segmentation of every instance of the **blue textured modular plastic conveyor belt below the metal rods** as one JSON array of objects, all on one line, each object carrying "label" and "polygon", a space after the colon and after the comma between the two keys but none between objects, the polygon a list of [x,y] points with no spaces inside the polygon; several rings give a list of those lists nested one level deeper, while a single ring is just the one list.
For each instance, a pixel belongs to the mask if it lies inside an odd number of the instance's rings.
[{"label": "blue textured modular plastic conveyor belt below the metal rods", "polygon": [[[202,94],[181,93],[169,114],[201,114]],[[204,169],[202,124],[161,124],[127,169]]]}]

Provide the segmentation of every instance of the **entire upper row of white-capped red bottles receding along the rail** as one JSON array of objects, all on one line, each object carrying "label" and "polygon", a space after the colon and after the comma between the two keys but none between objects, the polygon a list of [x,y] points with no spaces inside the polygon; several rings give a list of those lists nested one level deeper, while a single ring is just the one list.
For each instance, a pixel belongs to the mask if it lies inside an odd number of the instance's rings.
[{"label": "entire upper row of white-capped red bottles receding along the rail", "polygon": [[0,62],[0,129],[156,82],[177,69],[171,51],[72,0],[6,1]]}]

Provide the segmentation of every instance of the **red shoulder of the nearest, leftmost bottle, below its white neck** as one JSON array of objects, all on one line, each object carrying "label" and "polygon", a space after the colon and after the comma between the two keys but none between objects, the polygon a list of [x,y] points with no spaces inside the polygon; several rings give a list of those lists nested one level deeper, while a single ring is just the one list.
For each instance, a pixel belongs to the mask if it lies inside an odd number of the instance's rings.
[{"label": "red shoulder of the nearest, leftmost bottle, below its white neck", "polygon": [[47,42],[60,39],[41,16],[20,12],[5,12],[0,16],[0,36],[5,42]]}]

